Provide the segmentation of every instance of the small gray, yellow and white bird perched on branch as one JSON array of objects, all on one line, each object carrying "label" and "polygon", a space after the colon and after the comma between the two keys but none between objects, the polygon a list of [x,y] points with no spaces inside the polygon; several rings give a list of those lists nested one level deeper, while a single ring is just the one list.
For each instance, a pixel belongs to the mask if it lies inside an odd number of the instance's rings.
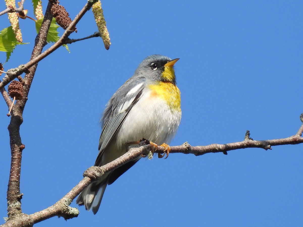
[{"label": "small gray, yellow and white bird perched on branch", "polygon": [[[176,85],[171,59],[154,54],[146,57],[130,77],[110,98],[101,118],[102,132],[95,166],[105,165],[127,152],[128,146],[141,139],[150,141],[152,150],[165,147],[175,136],[181,121],[181,92]],[[158,157],[163,157],[158,153]],[[167,157],[166,156],[166,157]],[[131,168],[141,157],[106,173],[90,183],[76,202],[97,213],[107,185]]]}]

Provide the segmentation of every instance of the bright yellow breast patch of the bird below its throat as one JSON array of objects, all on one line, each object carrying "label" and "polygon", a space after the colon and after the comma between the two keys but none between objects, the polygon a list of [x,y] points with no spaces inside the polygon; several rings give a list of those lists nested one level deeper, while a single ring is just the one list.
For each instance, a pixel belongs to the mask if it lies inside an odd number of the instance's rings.
[{"label": "bright yellow breast patch of the bird below its throat", "polygon": [[149,85],[149,88],[151,98],[161,98],[167,102],[171,110],[181,111],[181,92],[175,84],[158,81],[157,84]]}]

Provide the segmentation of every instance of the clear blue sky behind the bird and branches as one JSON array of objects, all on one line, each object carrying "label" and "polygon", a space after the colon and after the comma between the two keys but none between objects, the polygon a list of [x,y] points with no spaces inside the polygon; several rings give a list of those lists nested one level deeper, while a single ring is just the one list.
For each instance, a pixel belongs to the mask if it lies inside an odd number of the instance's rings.
[{"label": "clear blue sky behind the bird and branches", "polygon": [[[85,1],[60,3],[74,18]],[[71,53],[60,48],[38,64],[21,126],[23,212],[51,206],[82,179],[98,154],[105,104],[150,54],[180,58],[175,72],[182,120],[171,145],[237,142],[246,130],[255,140],[285,138],[301,126],[302,1],[102,1],[102,6],[112,41],[108,51],[93,38],[69,45]],[[6,16],[0,24],[9,26]],[[15,49],[5,70],[31,55],[34,22],[20,24],[30,44]],[[92,12],[77,29],[71,38],[97,30]],[[4,53],[0,59],[5,61]],[[4,100],[0,107],[5,217],[9,118]],[[78,218],[35,226],[301,226],[302,149],[286,145],[142,159],[107,187],[96,215],[79,207]]]}]

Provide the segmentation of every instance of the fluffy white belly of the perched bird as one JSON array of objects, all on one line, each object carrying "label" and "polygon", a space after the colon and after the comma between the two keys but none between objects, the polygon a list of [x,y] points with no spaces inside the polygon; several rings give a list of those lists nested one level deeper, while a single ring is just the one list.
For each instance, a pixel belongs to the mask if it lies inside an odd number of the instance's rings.
[{"label": "fluffy white belly of the perched bird", "polygon": [[169,143],[177,132],[180,120],[181,112],[171,110],[161,98],[150,98],[150,91],[145,91],[118,131],[118,145],[124,146],[142,138],[159,145]]}]

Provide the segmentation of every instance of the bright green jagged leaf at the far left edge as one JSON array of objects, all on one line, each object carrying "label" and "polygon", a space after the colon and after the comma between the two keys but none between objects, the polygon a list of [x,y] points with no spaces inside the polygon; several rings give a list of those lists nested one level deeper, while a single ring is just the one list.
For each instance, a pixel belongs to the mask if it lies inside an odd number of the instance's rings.
[{"label": "bright green jagged leaf at the far left edge", "polygon": [[15,49],[18,44],[27,44],[27,43],[19,43],[15,37],[12,26],[4,28],[0,32],[0,51],[6,52],[6,61],[8,61],[11,53]]}]

